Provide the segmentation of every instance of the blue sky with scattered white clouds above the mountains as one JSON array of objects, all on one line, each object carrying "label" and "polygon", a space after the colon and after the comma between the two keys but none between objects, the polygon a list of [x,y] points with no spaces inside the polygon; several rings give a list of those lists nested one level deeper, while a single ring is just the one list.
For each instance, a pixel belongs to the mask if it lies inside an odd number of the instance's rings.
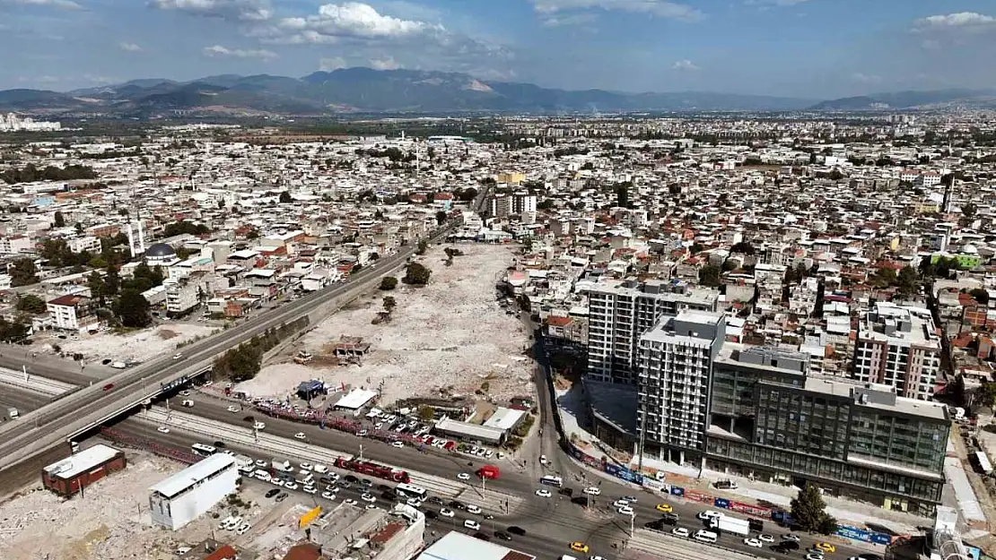
[{"label": "blue sky with scattered white clouds above the mountains", "polygon": [[996,87],[993,0],[0,0],[0,89],[367,66],[809,98]]}]

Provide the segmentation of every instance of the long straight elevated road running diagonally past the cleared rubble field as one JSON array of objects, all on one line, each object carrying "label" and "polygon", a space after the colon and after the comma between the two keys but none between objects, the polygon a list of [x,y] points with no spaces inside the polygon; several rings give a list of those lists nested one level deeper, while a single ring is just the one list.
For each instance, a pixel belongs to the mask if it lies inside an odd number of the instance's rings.
[{"label": "long straight elevated road running diagonally past the cleared rubble field", "polygon": [[[489,189],[484,189],[478,195],[474,201],[475,210],[483,206],[488,192]],[[436,243],[444,239],[452,227],[447,224],[435,230],[427,241]],[[253,336],[304,316],[324,317],[328,311],[372,287],[383,275],[402,267],[415,249],[416,245],[408,245],[395,255],[380,258],[362,269],[346,283],[312,292],[198,341],[184,348],[180,360],[163,356],[145,362],[101,383],[67,393],[17,422],[0,425],[0,479],[4,479],[12,467],[40,454],[50,457],[50,452],[61,444],[139,406],[150,404],[159,395],[209,371],[215,357]],[[68,455],[68,447],[65,452]]]}]

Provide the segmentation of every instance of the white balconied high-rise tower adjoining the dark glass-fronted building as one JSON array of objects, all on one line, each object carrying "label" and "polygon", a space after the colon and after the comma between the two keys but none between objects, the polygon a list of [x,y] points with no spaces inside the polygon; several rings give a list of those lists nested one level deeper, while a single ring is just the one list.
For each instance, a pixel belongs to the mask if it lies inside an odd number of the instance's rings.
[{"label": "white balconied high-rise tower adjoining the dark glass-fronted building", "polygon": [[723,346],[722,313],[684,310],[639,339],[638,436],[648,457],[684,463],[705,451],[712,362]]}]

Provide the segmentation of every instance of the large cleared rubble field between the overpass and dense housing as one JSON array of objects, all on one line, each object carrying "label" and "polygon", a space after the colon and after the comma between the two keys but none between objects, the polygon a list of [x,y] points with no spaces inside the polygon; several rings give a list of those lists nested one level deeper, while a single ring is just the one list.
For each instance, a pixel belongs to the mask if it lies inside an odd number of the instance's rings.
[{"label": "large cleared rubble field between the overpass and dense housing", "polygon": [[[445,247],[464,253],[451,267],[443,264]],[[302,381],[320,379],[373,389],[382,382],[382,404],[437,397],[441,388],[451,395],[473,394],[485,382],[486,393],[497,400],[532,394],[530,362],[523,354],[528,334],[518,317],[506,314],[495,300],[495,283],[504,279],[514,252],[493,245],[439,245],[420,258],[432,271],[428,285],[398,282],[394,290],[357,300],[297,343],[294,351],[312,353],[315,362],[266,366],[238,390],[283,397]],[[383,309],[384,295],[393,297],[397,306],[389,322],[372,324]],[[321,359],[342,335],[362,336],[372,344],[362,364],[330,365]]]}]

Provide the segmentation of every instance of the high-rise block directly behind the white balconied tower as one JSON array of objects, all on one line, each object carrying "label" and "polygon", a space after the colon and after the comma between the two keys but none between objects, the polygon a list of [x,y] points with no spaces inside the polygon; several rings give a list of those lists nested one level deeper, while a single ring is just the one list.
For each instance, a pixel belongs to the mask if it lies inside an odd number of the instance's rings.
[{"label": "high-rise block directly behind the white balconied tower", "polygon": [[588,289],[588,372],[593,381],[636,383],[639,338],[664,315],[715,311],[719,292],[670,281],[605,281]]}]

